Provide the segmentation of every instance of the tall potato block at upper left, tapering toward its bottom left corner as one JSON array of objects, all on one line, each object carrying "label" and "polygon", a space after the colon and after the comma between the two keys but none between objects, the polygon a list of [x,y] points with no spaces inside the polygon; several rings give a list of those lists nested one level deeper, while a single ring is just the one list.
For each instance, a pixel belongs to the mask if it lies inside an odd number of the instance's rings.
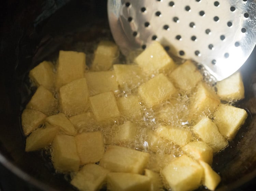
[{"label": "tall potato block at upper left, tapering toward its bottom left corner", "polygon": [[57,65],[56,88],[84,77],[86,64],[85,53],[75,51],[59,51]]}]

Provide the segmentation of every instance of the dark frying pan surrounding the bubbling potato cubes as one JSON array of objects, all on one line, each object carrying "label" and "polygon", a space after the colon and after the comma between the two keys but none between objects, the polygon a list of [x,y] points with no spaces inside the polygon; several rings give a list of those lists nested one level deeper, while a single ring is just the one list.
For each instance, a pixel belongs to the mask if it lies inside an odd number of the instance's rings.
[{"label": "dark frying pan surrounding the bubbling potato cubes", "polygon": [[[106,0],[7,0],[0,3],[0,190],[75,190],[56,174],[47,153],[26,153],[20,114],[33,90],[27,72],[58,51],[83,50],[98,36],[111,38]],[[61,7],[61,8],[60,8]],[[89,49],[87,59],[93,50]],[[217,190],[254,190],[256,184],[256,49],[242,67],[249,117],[230,146],[214,157]],[[88,60],[89,62],[89,60]],[[43,156],[43,157],[42,157]],[[200,188],[204,190],[204,188]]]}]

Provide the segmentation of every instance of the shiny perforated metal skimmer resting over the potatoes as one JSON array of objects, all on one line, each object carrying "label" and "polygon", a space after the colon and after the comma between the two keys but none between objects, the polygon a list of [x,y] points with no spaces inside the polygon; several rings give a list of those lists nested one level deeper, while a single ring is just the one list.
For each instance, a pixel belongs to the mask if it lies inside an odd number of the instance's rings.
[{"label": "shiny perforated metal skimmer resting over the potatoes", "polygon": [[256,44],[256,0],[108,0],[108,17],[123,54],[157,40],[217,80],[236,72]]}]

